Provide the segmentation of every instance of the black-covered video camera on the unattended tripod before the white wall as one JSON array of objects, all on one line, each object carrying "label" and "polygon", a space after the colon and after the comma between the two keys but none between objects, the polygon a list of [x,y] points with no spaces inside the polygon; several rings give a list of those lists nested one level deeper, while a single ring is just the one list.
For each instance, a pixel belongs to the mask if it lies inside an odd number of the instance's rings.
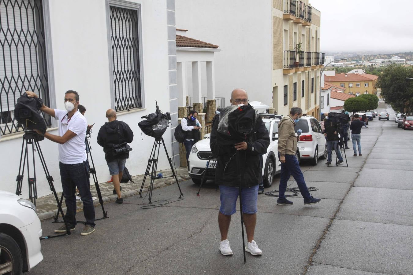
[{"label": "black-covered video camera on the unattended tripod before the white wall", "polygon": [[155,113],[143,116],[142,118],[146,118],[146,120],[142,120],[138,125],[147,136],[161,138],[168,127],[169,120],[171,120],[171,114],[162,113],[161,110],[159,110],[158,102],[156,100],[155,102]]}]

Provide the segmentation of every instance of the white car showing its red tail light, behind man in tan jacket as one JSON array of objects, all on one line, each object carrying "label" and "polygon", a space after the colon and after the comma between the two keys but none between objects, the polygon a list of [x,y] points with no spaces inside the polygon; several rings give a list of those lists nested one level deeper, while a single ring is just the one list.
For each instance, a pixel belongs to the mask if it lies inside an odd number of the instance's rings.
[{"label": "white car showing its red tail light, behind man in tan jacket", "polygon": [[312,115],[303,116],[294,127],[295,132],[299,129],[302,133],[297,143],[301,160],[310,159],[312,165],[317,165],[319,158],[327,158],[326,140],[318,120]]}]

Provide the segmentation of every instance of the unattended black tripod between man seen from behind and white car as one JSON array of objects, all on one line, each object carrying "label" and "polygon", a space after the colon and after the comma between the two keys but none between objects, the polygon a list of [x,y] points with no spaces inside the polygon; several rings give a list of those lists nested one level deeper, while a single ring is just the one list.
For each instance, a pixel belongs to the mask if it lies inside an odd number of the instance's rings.
[{"label": "unattended black tripod between man seen from behind and white car", "polygon": [[[179,199],[183,196],[183,193],[180,189],[179,183],[178,183],[178,177],[176,176],[175,170],[173,169],[172,166],[172,161],[171,158],[168,155],[168,151],[166,150],[166,146],[165,146],[165,142],[164,142],[164,138],[160,137],[160,138],[155,138],[154,141],[154,145],[152,146],[152,151],[151,151],[151,155],[150,155],[150,159],[148,160],[148,165],[146,167],[146,171],[145,171],[145,176],[143,177],[143,181],[142,181],[142,185],[140,186],[140,190],[139,190],[139,195],[140,197],[142,197],[142,189],[143,186],[145,185],[145,180],[147,176],[151,177],[151,182],[149,185],[149,203],[152,203],[152,192],[153,192],[153,186],[154,186],[154,180],[156,179],[156,172],[157,172],[157,167],[158,167],[158,160],[159,160],[159,150],[161,148],[161,142],[164,145],[164,150],[166,153],[166,157],[168,158],[169,161],[169,165],[171,166],[171,170],[172,170],[172,176],[175,178],[176,184],[178,185],[179,188]],[[152,167],[152,169],[151,169]],[[149,172],[151,170],[151,172]]]}]

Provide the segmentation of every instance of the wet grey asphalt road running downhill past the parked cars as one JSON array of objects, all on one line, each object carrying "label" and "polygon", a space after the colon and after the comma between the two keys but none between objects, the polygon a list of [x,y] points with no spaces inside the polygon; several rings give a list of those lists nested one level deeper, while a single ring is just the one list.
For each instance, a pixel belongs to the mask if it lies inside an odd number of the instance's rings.
[{"label": "wet grey asphalt road running downhill past the parked cars", "polygon": [[[381,102],[378,111],[385,109]],[[104,205],[109,219],[93,234],[81,236],[78,224],[72,235],[43,240],[44,260],[28,274],[413,274],[413,133],[387,111],[389,121],[375,118],[362,129],[362,157],[346,150],[349,167],[301,165],[320,203],[304,206],[300,195],[279,206],[259,195],[255,240],[263,255],[247,254],[245,264],[239,212],[229,230],[234,255],[222,256],[219,190],[207,183],[197,197],[198,186],[186,181],[184,200],[172,202],[178,188],[166,186],[153,201],[168,205],[141,209],[142,198],[129,197]],[[43,221],[43,233],[60,225]]]}]

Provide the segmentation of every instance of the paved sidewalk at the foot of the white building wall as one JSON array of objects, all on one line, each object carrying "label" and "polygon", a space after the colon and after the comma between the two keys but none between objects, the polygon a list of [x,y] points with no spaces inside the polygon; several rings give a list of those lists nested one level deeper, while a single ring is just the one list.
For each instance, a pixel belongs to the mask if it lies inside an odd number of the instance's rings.
[{"label": "paved sidewalk at the foot of the white building wall", "polygon": [[[171,185],[175,183],[175,179],[172,176],[172,171],[171,169],[165,169],[161,171],[157,171],[156,174],[162,173],[164,176],[161,179],[155,179],[154,180],[154,188],[160,188],[163,186]],[[190,176],[188,176],[188,169],[186,167],[177,167],[176,168],[176,175],[178,176],[178,181],[185,181],[190,179]],[[127,183],[121,183],[122,186],[122,197],[130,197],[133,195],[136,195],[139,193],[140,186],[142,185],[144,175],[138,175],[138,176],[133,176],[132,180],[135,182],[127,182]],[[150,176],[146,177],[145,180],[145,186],[142,189],[142,192],[146,192],[148,190],[149,184],[151,182]],[[55,184],[60,184],[60,183],[55,183]],[[93,197],[97,197],[97,192],[95,188],[95,184],[93,183],[93,178],[91,175],[90,178],[90,191],[92,193]],[[116,198],[118,197],[117,195],[114,195],[113,192],[113,184],[112,183],[99,183],[99,188],[100,188],[100,193],[102,194],[102,200],[103,203],[115,201]],[[57,196],[60,198],[62,197],[62,192],[57,193]],[[100,206],[99,198],[93,201],[95,204],[95,207]],[[64,204],[63,200],[63,211],[66,212],[66,207]],[[39,197],[36,200],[36,208],[37,208],[37,215],[40,220],[44,219],[49,219],[52,218],[53,216],[56,216],[57,213],[57,203],[56,203],[56,198],[51,193],[50,195],[44,196],[44,197]],[[81,211],[83,209],[83,203],[78,200],[77,201],[77,211]],[[95,210],[96,216],[100,217],[102,213],[100,213],[100,207],[96,208]]]}]

